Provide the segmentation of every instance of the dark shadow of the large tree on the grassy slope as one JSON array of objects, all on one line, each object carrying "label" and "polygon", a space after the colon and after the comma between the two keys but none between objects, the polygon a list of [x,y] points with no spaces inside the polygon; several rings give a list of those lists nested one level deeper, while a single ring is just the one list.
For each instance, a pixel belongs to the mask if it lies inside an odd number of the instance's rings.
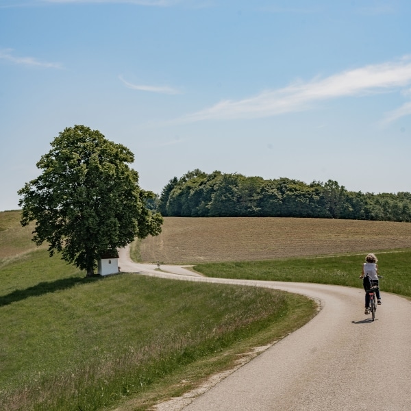
[{"label": "dark shadow of the large tree on the grassy slope", "polygon": [[56,279],[52,282],[40,282],[36,286],[26,288],[25,290],[15,290],[8,295],[0,296],[0,307],[8,306],[11,303],[22,301],[29,297],[38,297],[45,295],[48,292],[55,292],[58,290],[67,290],[77,284],[87,284],[95,282],[99,277],[70,277],[63,279]]}]

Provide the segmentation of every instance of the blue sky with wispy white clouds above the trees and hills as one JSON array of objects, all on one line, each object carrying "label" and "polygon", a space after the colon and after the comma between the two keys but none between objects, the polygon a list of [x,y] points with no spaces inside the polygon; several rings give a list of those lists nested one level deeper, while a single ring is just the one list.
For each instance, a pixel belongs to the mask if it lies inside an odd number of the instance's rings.
[{"label": "blue sky with wispy white clouds above the trees and hills", "polygon": [[200,169],[411,192],[409,0],[0,0],[0,211],[66,127]]}]

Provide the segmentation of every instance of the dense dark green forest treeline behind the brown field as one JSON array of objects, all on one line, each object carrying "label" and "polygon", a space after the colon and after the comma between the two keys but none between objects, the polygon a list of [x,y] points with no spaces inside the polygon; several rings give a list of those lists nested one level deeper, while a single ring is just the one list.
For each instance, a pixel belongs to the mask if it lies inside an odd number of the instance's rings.
[{"label": "dense dark green forest treeline behind the brown field", "polygon": [[198,169],[174,177],[151,207],[163,216],[273,216],[411,221],[411,193],[353,192],[329,179],[263,179]]}]

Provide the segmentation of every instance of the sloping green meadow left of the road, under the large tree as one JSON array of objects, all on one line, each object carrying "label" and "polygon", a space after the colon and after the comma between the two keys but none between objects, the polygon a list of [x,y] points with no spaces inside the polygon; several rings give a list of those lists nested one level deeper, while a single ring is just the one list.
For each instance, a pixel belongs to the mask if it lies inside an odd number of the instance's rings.
[{"label": "sloping green meadow left of the road, under the large tree", "polygon": [[0,213],[0,410],[147,410],[316,312],[260,288],[87,279],[18,219]]}]

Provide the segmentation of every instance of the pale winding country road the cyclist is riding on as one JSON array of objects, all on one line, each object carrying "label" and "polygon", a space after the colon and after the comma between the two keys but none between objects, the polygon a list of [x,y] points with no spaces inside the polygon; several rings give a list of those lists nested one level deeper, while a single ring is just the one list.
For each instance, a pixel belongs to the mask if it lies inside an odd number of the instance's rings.
[{"label": "pale winding country road the cyclist is riding on", "polygon": [[361,289],[207,278],[181,267],[136,264],[121,251],[121,271],[190,281],[277,288],[316,299],[321,311],[199,397],[161,411],[411,410],[411,305],[384,292],[376,319],[364,315]]}]

